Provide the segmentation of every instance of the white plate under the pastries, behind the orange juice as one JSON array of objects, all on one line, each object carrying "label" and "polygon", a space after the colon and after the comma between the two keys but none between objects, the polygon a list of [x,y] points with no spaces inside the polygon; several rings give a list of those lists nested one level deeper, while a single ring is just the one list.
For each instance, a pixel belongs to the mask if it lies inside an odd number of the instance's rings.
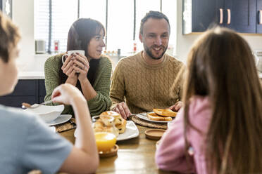
[{"label": "white plate under the pastries, behind the orange juice", "polygon": [[[74,133],[75,137],[77,137],[77,130],[75,130]],[[127,121],[125,133],[121,133],[118,135],[118,138],[116,138],[117,141],[122,141],[122,140],[128,140],[131,138],[136,138],[139,135],[139,131],[137,126],[133,121]]]}]

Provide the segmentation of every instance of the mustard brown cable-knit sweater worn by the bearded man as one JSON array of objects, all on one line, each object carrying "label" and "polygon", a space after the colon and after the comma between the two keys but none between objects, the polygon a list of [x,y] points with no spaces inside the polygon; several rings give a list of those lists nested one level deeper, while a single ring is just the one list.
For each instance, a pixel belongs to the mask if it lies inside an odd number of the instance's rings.
[{"label": "mustard brown cable-knit sweater worn by the bearded man", "polygon": [[170,88],[185,65],[168,54],[163,57],[163,62],[158,65],[148,65],[142,52],[121,59],[112,76],[111,109],[125,101],[130,112],[136,114],[151,112],[153,108],[167,108],[180,100],[181,80],[172,88],[174,95]]}]

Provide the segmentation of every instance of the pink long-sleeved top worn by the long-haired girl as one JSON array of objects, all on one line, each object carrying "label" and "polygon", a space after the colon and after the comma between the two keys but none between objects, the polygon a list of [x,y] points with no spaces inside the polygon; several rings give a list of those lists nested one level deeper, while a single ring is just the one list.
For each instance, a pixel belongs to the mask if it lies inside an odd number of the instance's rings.
[{"label": "pink long-sleeved top worn by the long-haired girl", "polygon": [[208,98],[195,96],[189,106],[189,120],[203,134],[193,128],[190,128],[187,132],[187,140],[194,151],[194,154],[187,161],[185,156],[183,110],[180,109],[175,121],[163,135],[160,145],[156,149],[155,159],[158,168],[180,173],[207,173],[204,142],[210,119],[211,107]]}]

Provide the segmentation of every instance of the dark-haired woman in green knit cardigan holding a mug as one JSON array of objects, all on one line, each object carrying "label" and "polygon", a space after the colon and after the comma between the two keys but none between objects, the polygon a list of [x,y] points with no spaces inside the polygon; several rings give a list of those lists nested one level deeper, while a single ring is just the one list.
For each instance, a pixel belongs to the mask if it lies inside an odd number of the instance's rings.
[{"label": "dark-haired woman in green knit cardigan holding a mug", "polygon": [[[92,19],[76,20],[68,32],[68,51],[83,50],[85,55],[73,54],[62,63],[63,54],[48,58],[44,65],[46,97],[51,99],[54,88],[62,83],[70,83],[82,91],[92,116],[111,107],[109,98],[112,64],[108,57],[101,55],[106,30]],[[54,104],[53,104],[54,105]],[[63,114],[73,114],[66,106]]]}]

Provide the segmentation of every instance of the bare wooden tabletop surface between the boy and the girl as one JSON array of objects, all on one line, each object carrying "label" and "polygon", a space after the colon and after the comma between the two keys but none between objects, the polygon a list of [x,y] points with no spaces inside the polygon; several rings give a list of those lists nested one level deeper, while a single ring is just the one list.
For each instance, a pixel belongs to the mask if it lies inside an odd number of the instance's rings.
[{"label": "bare wooden tabletop surface between the boy and the girl", "polygon": [[[100,158],[96,173],[171,173],[158,170],[156,166],[154,156],[157,140],[149,140],[144,134],[149,128],[139,125],[137,128],[137,138],[117,142],[119,149],[116,156]],[[60,134],[74,143],[74,132],[75,129]]]}]

